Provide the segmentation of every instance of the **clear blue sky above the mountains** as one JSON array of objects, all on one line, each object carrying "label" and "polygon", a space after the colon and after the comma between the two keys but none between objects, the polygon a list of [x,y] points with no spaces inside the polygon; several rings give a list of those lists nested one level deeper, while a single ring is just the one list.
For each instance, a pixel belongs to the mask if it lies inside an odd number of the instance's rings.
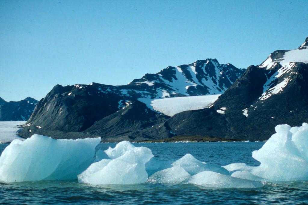
[{"label": "clear blue sky above the mountains", "polygon": [[123,85],[217,58],[260,64],[308,36],[308,1],[0,1],[0,97],[56,84]]}]

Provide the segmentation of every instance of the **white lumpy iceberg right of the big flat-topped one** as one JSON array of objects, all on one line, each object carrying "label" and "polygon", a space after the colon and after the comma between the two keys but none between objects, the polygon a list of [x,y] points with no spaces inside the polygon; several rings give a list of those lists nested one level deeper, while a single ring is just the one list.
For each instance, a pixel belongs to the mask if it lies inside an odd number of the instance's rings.
[{"label": "white lumpy iceberg right of the big flat-topped one", "polygon": [[135,184],[148,180],[145,164],[153,157],[149,148],[135,147],[130,142],[123,141],[105,152],[111,159],[91,164],[78,175],[79,182],[93,185]]}]

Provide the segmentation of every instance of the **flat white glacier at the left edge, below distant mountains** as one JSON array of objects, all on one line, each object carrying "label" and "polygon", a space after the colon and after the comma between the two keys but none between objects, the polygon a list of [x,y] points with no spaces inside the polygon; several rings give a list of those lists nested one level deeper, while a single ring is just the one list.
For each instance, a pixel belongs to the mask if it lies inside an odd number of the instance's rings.
[{"label": "flat white glacier at the left edge, below distant mountains", "polygon": [[17,135],[20,128],[17,125],[25,124],[26,121],[2,121],[0,122],[0,144],[11,142],[14,139],[24,140]]}]

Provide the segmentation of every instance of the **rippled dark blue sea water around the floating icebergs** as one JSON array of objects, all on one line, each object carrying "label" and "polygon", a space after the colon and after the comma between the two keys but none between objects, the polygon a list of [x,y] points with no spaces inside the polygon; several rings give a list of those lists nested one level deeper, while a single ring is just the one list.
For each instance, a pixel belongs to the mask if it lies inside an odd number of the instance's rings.
[{"label": "rippled dark blue sea water around the floating icebergs", "polygon": [[[142,143],[159,160],[177,160],[191,153],[198,160],[219,165],[259,165],[251,152],[263,142]],[[0,144],[0,152],[6,147]],[[99,149],[115,144],[99,144]],[[192,184],[91,186],[73,181],[41,181],[0,184],[0,204],[305,204],[308,182],[269,183],[257,189],[212,189]]]}]

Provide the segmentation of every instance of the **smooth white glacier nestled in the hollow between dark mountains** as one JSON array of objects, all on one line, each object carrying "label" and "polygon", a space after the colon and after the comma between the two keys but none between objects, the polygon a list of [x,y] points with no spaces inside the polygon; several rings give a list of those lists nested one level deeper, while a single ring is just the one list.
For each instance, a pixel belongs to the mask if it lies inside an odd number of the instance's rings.
[{"label": "smooth white glacier nestled in the hollow between dark mountains", "polygon": [[145,99],[138,98],[139,101],[145,103],[148,108],[161,112],[168,116],[173,116],[176,113],[187,110],[198,110],[209,107],[220,96],[204,95],[190,97],[172,97],[163,99]]}]

